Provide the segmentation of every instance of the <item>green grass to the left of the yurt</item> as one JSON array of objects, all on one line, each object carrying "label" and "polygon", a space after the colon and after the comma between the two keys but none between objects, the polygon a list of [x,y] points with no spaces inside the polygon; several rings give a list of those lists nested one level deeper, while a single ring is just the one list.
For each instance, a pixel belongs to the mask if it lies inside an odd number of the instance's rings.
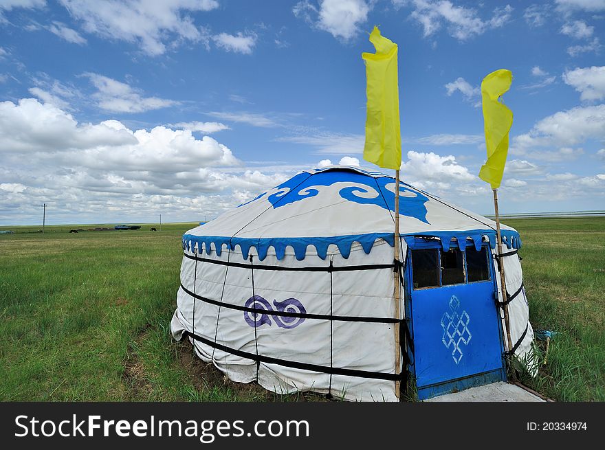
[{"label": "green grass to the left of the yurt", "polygon": [[[0,400],[296,401],[223,378],[170,335],[197,223],[0,227]],[[109,225],[107,225],[109,227]]]}]

